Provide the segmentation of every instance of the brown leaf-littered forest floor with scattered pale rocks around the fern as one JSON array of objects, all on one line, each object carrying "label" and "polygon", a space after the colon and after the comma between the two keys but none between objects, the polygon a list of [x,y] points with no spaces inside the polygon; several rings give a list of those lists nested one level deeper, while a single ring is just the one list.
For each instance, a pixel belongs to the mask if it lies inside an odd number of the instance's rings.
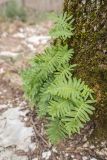
[{"label": "brown leaf-littered forest floor with scattered pale rocks around the fern", "polygon": [[49,144],[44,121],[23,96],[20,71],[49,45],[51,26],[50,21],[0,24],[0,160],[106,160],[107,142],[88,140],[92,123],[57,146]]}]

